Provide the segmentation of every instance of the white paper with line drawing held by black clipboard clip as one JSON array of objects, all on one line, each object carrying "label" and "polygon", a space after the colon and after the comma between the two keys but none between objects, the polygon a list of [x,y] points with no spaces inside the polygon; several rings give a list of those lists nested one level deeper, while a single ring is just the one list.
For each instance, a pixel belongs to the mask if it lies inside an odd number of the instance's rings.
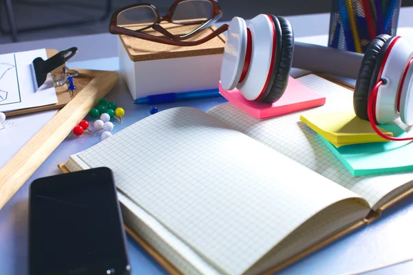
[{"label": "white paper with line drawing held by black clipboard clip", "polygon": [[0,111],[39,107],[57,102],[50,74],[39,89],[34,85],[31,64],[37,57],[46,60],[46,50],[0,54]]}]

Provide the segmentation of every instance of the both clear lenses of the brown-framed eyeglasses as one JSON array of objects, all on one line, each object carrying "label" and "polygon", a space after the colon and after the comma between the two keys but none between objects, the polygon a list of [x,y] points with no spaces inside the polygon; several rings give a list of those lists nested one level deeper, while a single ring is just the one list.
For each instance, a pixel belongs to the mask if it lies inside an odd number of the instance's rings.
[{"label": "both clear lenses of the brown-framed eyeglasses", "polygon": [[[176,5],[171,21],[177,24],[192,24],[211,19],[212,4],[205,0],[187,0]],[[142,30],[159,21],[158,13],[149,5],[128,8],[118,14],[118,27]]]}]

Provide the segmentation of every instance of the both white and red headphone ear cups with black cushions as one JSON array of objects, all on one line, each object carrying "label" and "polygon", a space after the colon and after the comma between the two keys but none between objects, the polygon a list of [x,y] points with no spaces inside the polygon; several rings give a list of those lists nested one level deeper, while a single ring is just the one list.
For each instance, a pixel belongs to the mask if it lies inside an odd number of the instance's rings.
[{"label": "both white and red headphone ear cups with black cushions", "polygon": [[[273,103],[284,94],[293,63],[293,28],[284,17],[259,14],[248,25],[234,17],[229,24],[221,66],[223,89],[257,102]],[[381,34],[370,42],[354,87],[354,112],[376,124],[401,121],[413,125],[413,47],[401,36]]]}]

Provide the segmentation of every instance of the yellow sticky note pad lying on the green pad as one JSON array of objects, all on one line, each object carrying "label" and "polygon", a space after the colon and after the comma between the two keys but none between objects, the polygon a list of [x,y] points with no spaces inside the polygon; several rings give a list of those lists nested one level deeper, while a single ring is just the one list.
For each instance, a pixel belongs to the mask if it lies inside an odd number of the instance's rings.
[{"label": "yellow sticky note pad lying on the green pad", "polygon": [[[357,118],[357,115],[350,111],[306,113],[300,115],[300,120],[336,147],[389,141],[377,135],[370,122]],[[385,131],[382,128],[379,128],[379,130],[385,135],[393,136],[392,132]]]}]

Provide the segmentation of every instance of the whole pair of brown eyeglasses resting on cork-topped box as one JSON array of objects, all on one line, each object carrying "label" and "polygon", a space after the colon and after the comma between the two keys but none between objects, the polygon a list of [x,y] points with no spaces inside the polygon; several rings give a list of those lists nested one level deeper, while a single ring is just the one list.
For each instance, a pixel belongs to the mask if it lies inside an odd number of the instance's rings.
[{"label": "whole pair of brown eyeglasses resting on cork-topped box", "polygon": [[[201,30],[209,28],[221,17],[222,11],[217,0],[178,0],[171,5],[165,17],[160,17],[155,6],[141,3],[128,5],[114,12],[110,21],[109,32],[111,34],[123,34],[157,43],[176,46],[193,46],[205,43],[228,29],[228,25],[224,24],[202,39],[197,41],[184,41],[198,34]],[[162,28],[160,25],[162,21],[180,25],[199,26],[188,34],[176,35]],[[167,37],[154,36],[143,32],[149,28]]]}]

